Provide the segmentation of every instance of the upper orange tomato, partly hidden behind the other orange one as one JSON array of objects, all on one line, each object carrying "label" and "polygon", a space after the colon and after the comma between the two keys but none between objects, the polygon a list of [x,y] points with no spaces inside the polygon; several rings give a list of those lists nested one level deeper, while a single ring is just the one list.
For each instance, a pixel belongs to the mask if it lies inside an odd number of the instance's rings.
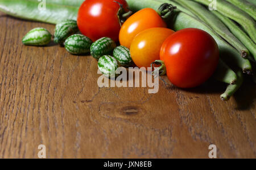
[{"label": "upper orange tomato, partly hidden behind the other orange one", "polygon": [[167,25],[155,10],[149,8],[139,10],[123,23],[119,32],[119,42],[130,48],[131,42],[139,32],[154,27],[167,27]]}]

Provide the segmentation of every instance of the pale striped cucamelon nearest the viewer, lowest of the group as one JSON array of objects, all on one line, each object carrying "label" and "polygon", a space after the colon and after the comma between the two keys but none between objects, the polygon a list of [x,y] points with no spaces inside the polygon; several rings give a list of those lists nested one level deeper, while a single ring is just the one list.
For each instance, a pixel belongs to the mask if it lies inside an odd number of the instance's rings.
[{"label": "pale striped cucamelon nearest the viewer, lowest of the group", "polygon": [[109,55],[104,55],[100,57],[98,60],[98,69],[100,69],[101,73],[106,77],[115,77],[115,71],[118,68],[118,62],[114,57]]}]

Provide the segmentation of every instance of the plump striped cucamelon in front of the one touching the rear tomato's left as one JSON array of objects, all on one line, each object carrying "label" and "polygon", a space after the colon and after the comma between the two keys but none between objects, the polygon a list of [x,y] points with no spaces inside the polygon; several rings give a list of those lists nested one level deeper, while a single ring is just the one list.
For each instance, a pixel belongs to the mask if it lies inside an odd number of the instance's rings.
[{"label": "plump striped cucamelon in front of the one touching the rear tomato's left", "polygon": [[81,34],[74,34],[65,40],[65,49],[72,54],[82,55],[90,52],[92,40]]}]

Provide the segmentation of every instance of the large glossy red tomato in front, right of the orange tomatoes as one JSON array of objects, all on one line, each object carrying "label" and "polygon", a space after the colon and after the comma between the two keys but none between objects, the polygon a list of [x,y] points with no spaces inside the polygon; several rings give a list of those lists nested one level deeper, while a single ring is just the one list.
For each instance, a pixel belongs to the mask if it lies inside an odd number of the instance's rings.
[{"label": "large glossy red tomato in front, right of the orange tomatoes", "polygon": [[203,84],[214,73],[219,59],[218,45],[207,32],[185,28],[169,36],[160,50],[168,79],[179,88]]}]

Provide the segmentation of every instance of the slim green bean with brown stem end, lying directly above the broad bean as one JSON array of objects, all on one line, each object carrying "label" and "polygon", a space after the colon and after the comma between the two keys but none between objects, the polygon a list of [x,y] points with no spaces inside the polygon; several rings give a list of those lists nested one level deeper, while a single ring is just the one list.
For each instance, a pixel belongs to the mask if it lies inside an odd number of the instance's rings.
[{"label": "slim green bean with brown stem end, lying directly above the broad bean", "polygon": [[242,57],[249,55],[249,51],[245,45],[243,45],[240,40],[238,40],[236,36],[229,31],[229,29],[224,23],[221,22],[220,19],[217,18],[217,16],[210,13],[210,11],[205,9],[204,6],[201,6],[197,2],[187,0],[179,0],[179,3],[191,10],[192,13],[196,14],[199,19],[207,23],[208,26],[210,26],[218,35],[225,39],[229,44],[233,45],[233,47],[241,53]]}]

